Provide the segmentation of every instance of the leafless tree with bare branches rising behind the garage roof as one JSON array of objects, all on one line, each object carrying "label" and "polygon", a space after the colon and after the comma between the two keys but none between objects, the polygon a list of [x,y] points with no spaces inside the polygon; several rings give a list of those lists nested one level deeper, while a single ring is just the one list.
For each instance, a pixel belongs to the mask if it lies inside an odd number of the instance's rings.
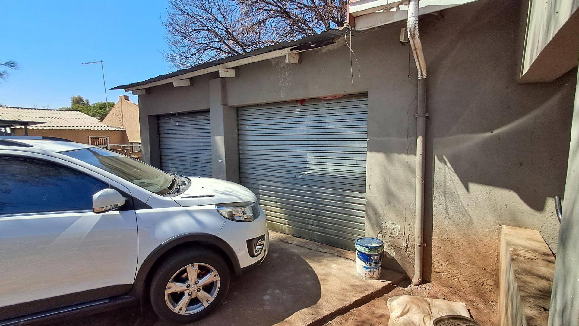
[{"label": "leafless tree with bare branches rising behind the garage roof", "polygon": [[169,0],[164,59],[183,68],[341,27],[346,0]]}]

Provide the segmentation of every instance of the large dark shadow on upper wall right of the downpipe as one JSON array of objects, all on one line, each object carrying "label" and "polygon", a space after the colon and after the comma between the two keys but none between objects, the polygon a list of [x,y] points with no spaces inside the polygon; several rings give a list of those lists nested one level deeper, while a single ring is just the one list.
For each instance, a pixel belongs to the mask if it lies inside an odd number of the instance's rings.
[{"label": "large dark shadow on upper wall right of the downpipe", "polygon": [[[516,35],[504,31],[516,31],[517,13],[505,13],[492,1],[470,8],[479,13],[459,27],[468,37],[443,39],[428,53],[427,137],[434,148],[428,157],[450,162],[467,190],[468,183],[511,189],[542,211],[545,198],[562,194],[565,185],[576,73],[550,83],[516,84]],[[438,28],[433,18],[423,26],[427,43],[448,28]]]}]

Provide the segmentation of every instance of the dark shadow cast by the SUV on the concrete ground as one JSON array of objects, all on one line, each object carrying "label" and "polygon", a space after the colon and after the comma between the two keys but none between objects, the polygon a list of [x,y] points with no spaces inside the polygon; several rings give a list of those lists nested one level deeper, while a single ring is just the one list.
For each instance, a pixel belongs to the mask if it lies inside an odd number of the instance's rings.
[{"label": "dark shadow cast by the SUV on the concrete ground", "polygon": [[[270,245],[267,259],[256,269],[233,278],[222,306],[210,316],[194,323],[203,326],[269,326],[296,311],[313,306],[321,297],[320,280],[299,255]],[[108,311],[68,321],[68,325],[168,326],[159,320],[150,305],[141,313],[138,307]]]}]

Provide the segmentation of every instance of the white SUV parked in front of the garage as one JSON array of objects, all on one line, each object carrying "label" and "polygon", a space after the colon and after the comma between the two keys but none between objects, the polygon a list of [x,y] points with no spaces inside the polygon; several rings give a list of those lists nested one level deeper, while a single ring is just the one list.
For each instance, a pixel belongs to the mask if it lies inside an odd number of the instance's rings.
[{"label": "white SUV parked in front of the garage", "polygon": [[0,137],[0,325],[131,298],[195,321],[267,246],[265,214],[239,184],[64,139]]}]

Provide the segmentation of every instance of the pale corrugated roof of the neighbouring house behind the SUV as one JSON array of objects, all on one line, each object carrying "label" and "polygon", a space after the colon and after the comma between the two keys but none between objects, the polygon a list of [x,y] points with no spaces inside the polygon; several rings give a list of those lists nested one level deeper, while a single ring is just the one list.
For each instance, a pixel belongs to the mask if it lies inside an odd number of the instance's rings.
[{"label": "pale corrugated roof of the neighbouring house behind the SUV", "polygon": [[[69,130],[124,130],[123,128],[101,124],[97,118],[77,110],[50,110],[46,108],[0,107],[0,119],[18,121],[43,121],[28,129],[69,129]],[[15,127],[22,128],[22,127]]]}]

